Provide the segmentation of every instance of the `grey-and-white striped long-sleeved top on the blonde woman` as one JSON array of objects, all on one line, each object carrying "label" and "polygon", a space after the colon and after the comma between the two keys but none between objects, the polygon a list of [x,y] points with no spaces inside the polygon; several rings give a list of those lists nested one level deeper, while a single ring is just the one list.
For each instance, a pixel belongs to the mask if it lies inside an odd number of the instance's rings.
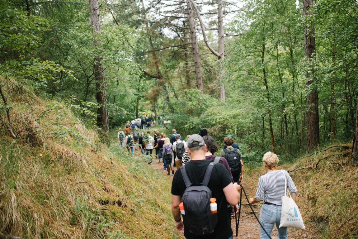
[{"label": "grey-and-white striped long-sleeved top on the blonde woman", "polygon": [[[284,172],[285,178],[282,172]],[[281,205],[281,197],[285,195],[285,180],[287,181],[289,191],[291,193],[297,193],[296,186],[289,173],[285,170],[279,170],[267,172],[260,177],[257,185],[256,199]]]}]

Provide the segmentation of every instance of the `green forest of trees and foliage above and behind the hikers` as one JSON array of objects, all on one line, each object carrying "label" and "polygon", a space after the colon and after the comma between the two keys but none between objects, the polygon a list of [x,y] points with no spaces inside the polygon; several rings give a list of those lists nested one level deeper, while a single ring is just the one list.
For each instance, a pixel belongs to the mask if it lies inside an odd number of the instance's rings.
[{"label": "green forest of trees and foliage above and behind the hikers", "polygon": [[252,161],[357,135],[356,0],[5,0],[0,29],[13,139],[45,114],[14,119],[8,95],[25,85],[70,100],[105,140],[143,111],[184,134],[232,134]]}]

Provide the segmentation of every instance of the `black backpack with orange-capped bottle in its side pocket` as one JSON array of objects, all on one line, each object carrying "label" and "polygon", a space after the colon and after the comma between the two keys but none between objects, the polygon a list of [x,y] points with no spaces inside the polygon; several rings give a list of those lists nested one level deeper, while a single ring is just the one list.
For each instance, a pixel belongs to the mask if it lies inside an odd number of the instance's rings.
[{"label": "black backpack with orange-capped bottle in its side pocket", "polygon": [[193,235],[203,236],[214,232],[214,228],[218,222],[217,213],[210,213],[211,190],[208,188],[208,182],[215,162],[210,162],[204,176],[201,186],[192,186],[185,164],[180,168],[185,185],[187,188],[183,194],[183,205],[185,215],[185,227],[189,228],[189,232]]}]

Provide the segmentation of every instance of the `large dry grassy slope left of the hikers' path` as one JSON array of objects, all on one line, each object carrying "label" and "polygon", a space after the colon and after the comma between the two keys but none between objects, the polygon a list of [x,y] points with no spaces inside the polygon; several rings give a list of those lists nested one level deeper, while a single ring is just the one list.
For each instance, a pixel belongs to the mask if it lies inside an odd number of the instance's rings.
[{"label": "large dry grassy slope left of the hikers' path", "polygon": [[180,238],[170,211],[170,178],[84,131],[96,143],[78,147],[67,135],[32,147],[1,132],[0,235]]}]

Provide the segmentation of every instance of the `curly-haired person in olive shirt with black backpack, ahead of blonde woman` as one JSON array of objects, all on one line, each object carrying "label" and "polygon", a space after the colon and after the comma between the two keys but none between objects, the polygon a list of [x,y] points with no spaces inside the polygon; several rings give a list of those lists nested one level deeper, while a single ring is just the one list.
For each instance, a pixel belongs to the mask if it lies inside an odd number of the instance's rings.
[{"label": "curly-haired person in olive shirt with black backpack, ahead of blonde woman", "polygon": [[226,158],[229,163],[234,182],[238,182],[239,180],[242,181],[244,164],[242,162],[242,154],[240,150],[232,147],[233,142],[234,139],[232,137],[224,138],[224,144],[227,148],[221,150],[220,157]]}]

